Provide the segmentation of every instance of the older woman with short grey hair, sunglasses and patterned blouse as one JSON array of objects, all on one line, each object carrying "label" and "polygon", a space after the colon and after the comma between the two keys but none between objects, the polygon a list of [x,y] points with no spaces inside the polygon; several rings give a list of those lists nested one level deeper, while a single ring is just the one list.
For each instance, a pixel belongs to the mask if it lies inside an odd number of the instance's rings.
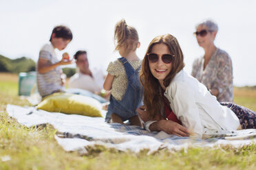
[{"label": "older woman with short grey hair, sunglasses and patterned blouse", "polygon": [[217,24],[204,21],[196,27],[195,37],[204,49],[204,56],[193,62],[191,75],[204,84],[217,101],[233,101],[232,61],[226,51],[217,48],[214,40]]}]

